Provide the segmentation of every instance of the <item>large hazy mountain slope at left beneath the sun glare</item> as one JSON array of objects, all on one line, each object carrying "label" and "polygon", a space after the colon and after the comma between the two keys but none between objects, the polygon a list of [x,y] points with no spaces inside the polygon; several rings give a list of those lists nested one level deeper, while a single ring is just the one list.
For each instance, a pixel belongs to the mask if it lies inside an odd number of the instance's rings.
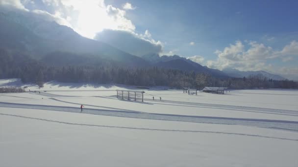
[{"label": "large hazy mountain slope at left beneath the sun glare", "polygon": [[2,48],[21,51],[36,59],[60,51],[94,55],[129,66],[149,64],[109,44],[82,37],[70,27],[30,14],[0,13],[0,25]]}]

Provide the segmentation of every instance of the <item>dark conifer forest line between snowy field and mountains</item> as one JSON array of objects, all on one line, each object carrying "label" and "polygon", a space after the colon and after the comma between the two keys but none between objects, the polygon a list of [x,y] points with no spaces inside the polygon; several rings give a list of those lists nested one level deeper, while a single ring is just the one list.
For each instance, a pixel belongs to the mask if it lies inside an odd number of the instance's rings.
[{"label": "dark conifer forest line between snowy field and mountains", "polygon": [[0,49],[0,78],[21,78],[23,83],[43,86],[52,80],[64,83],[127,84],[202,89],[205,86],[248,88],[298,88],[298,83],[276,81],[262,75],[248,78],[215,78],[206,73],[160,67],[126,67],[124,65],[73,64],[49,65],[22,54]]}]

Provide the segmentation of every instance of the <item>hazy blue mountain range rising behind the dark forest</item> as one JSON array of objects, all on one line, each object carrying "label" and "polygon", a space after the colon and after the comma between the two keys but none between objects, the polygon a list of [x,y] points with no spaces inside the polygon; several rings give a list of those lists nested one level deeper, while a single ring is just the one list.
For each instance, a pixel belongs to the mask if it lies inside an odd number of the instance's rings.
[{"label": "hazy blue mountain range rising behind the dark forest", "polygon": [[72,28],[46,21],[30,13],[0,12],[0,47],[18,51],[51,65],[113,64],[131,67],[157,66],[208,73],[214,77],[248,77],[263,75],[274,80],[284,78],[265,71],[238,71],[202,66],[184,57],[147,54],[141,57],[126,53],[107,43],[82,37]]}]

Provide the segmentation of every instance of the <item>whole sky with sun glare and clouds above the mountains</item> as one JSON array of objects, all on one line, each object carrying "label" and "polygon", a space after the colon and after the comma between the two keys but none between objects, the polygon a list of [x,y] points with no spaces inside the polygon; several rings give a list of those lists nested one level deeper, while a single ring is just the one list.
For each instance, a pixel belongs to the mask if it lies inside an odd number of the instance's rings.
[{"label": "whole sky with sun glare and clouds above the mountains", "polygon": [[212,68],[265,70],[298,79],[297,0],[1,0],[0,4],[49,15],[85,37],[137,56],[176,54]]}]

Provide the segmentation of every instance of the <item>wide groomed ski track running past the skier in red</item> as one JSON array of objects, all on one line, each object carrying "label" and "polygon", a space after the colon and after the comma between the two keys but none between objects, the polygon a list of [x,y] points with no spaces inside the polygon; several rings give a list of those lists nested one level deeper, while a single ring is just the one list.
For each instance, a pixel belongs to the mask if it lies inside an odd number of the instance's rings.
[{"label": "wide groomed ski track running past the skier in red", "polygon": [[[70,106],[17,104],[17,103],[0,102],[0,107],[42,109],[42,110],[80,113],[79,107],[70,107]],[[146,112],[139,112],[139,111],[93,109],[93,108],[88,108],[88,109],[85,108],[83,110],[83,113],[95,114],[95,115],[105,115],[105,116],[137,118],[137,119],[164,120],[164,121],[182,121],[182,122],[194,122],[194,123],[206,123],[206,124],[225,124],[225,125],[246,125],[246,126],[275,128],[275,129],[280,129],[280,130],[290,130],[290,131],[298,132],[298,122],[297,121],[210,117],[210,116],[190,116],[190,115],[146,113]]]}]

